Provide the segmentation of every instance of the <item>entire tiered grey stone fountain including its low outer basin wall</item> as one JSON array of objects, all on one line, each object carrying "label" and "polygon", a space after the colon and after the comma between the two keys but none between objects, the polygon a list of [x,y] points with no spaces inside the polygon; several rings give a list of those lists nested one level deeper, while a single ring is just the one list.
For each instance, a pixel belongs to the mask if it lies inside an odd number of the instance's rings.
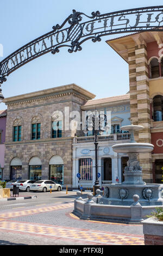
[{"label": "entire tiered grey stone fountain including its low outer basin wall", "polygon": [[78,196],[74,201],[74,214],[84,220],[140,223],[155,211],[156,206],[163,208],[163,184],[146,184],[142,179],[142,167],[137,156],[139,153],[151,153],[154,148],[149,143],[135,142],[134,131],[142,129],[143,126],[133,124],[121,127],[122,131],[130,132],[130,142],[112,146],[116,153],[129,156],[124,181],[103,185],[103,197],[99,193],[96,197],[89,193],[87,200],[81,200]]}]

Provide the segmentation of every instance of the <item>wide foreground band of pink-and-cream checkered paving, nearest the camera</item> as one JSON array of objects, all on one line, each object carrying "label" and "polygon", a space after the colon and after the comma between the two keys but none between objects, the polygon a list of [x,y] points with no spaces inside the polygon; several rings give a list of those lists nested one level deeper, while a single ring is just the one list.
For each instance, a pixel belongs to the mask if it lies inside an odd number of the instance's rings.
[{"label": "wide foreground band of pink-and-cream checkered paving, nearest the camera", "polygon": [[60,237],[73,241],[91,242],[98,245],[144,245],[143,237],[135,235],[120,235],[99,230],[85,230],[59,226],[48,226],[34,223],[1,221],[0,230],[17,231],[43,236]]}]

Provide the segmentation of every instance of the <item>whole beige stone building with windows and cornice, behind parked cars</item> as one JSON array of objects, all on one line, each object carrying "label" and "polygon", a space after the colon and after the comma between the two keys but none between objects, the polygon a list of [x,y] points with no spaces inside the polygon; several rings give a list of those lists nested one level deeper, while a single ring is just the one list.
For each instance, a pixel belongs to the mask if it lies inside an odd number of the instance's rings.
[{"label": "whole beige stone building with windows and cornice, behind parked cars", "polygon": [[71,115],[94,97],[69,84],[4,99],[8,116],[3,178],[52,179],[72,186],[76,131],[70,129]]}]

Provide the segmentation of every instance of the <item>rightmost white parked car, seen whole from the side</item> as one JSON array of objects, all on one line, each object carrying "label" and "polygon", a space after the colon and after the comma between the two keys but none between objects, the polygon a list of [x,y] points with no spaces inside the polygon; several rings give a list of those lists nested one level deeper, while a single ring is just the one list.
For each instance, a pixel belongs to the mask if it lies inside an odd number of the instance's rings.
[{"label": "rightmost white parked car, seen whole from the side", "polygon": [[46,191],[52,191],[57,190],[57,191],[61,191],[62,187],[60,184],[55,183],[52,180],[37,180],[34,184],[32,184],[30,186],[30,190],[32,191],[42,191],[42,192],[46,192]]}]

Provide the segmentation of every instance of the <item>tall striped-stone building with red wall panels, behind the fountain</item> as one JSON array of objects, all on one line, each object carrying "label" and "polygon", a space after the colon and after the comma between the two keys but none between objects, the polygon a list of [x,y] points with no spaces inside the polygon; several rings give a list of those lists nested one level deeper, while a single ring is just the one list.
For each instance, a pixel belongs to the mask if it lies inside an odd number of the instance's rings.
[{"label": "tall striped-stone building with red wall panels, behind the fountain", "polygon": [[143,179],[163,180],[163,32],[135,33],[106,41],[129,65],[130,114],[133,124],[145,127],[137,142],[154,144],[140,154]]}]

